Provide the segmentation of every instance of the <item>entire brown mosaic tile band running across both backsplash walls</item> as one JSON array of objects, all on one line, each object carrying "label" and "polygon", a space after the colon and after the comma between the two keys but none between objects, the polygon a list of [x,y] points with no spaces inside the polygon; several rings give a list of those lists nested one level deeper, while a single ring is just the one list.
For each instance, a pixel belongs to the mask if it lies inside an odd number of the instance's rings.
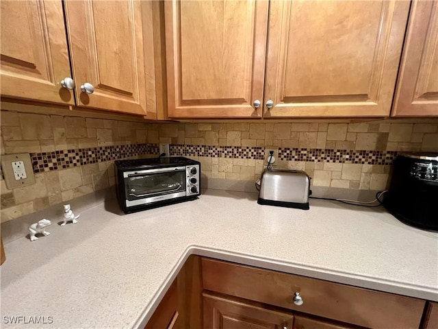
[{"label": "entire brown mosaic tile band running across both backsplash walls", "polygon": [[[263,160],[264,147],[236,147],[210,145],[170,145],[170,156],[205,156],[209,158],[237,158]],[[85,149],[31,153],[34,173],[77,167],[139,156],[159,154],[158,144],[131,144]],[[337,162],[352,164],[392,164],[396,151],[366,151],[347,149],[279,148],[279,160],[308,162]]]}]

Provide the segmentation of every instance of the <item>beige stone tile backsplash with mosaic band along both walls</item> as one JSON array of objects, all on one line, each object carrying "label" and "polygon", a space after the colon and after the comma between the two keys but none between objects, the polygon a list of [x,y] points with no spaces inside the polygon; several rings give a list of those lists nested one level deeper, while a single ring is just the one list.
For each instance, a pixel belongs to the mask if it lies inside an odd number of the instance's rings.
[{"label": "beige stone tile backsplash with mosaic band along both walls", "polygon": [[438,151],[438,120],[146,123],[2,110],[1,154],[31,154],[36,184],[8,190],[0,180],[1,221],[112,186],[115,159],[158,154],[159,143],[199,160],[207,186],[257,180],[274,146],[276,165],[307,171],[313,186],[383,190],[398,151]]}]

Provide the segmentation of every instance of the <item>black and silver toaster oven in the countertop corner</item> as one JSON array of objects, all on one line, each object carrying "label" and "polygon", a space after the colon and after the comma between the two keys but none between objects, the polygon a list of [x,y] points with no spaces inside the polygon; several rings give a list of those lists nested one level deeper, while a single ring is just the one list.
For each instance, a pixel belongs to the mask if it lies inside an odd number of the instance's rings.
[{"label": "black and silver toaster oven in the countertop corner", "polygon": [[118,204],[125,213],[201,195],[201,163],[198,161],[177,156],[114,163]]}]

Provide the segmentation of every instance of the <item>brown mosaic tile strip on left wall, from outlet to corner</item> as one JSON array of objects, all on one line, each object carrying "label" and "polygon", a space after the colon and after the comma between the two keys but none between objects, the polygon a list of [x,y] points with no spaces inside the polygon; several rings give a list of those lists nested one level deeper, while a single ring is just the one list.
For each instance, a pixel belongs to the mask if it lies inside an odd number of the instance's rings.
[{"label": "brown mosaic tile strip on left wall, from outlet to corner", "polygon": [[34,173],[42,173],[84,164],[129,158],[140,154],[158,154],[158,152],[159,145],[157,144],[131,144],[31,153],[30,158]]}]

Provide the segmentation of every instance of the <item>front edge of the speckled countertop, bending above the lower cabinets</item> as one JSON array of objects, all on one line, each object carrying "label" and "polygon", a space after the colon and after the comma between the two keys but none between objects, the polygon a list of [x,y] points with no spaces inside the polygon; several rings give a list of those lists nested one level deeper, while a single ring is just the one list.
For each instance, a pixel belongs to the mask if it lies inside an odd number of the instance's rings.
[{"label": "front edge of the speckled countertop, bending above the lower cabinets", "polygon": [[166,280],[164,280],[162,285],[159,287],[151,302],[146,306],[146,308],[144,308],[142,315],[140,315],[137,321],[134,322],[132,328],[143,329],[146,326],[149,319],[151,319],[153,313],[155,312],[155,309],[158,307],[159,302],[161,302],[170,285],[175,278],[177,278],[177,275],[185,264],[185,261],[191,255],[210,257],[232,263],[239,263],[241,265],[259,267],[261,269],[281,271],[283,273],[307,276],[309,278],[326,280],[339,284],[348,284],[350,286],[381,291],[383,293],[394,293],[397,295],[404,295],[407,297],[438,302],[438,289],[433,289],[430,287],[424,287],[405,282],[383,280],[368,276],[360,276],[355,273],[336,271],[334,269],[324,269],[322,267],[314,267],[300,263],[291,263],[273,258],[250,256],[248,254],[230,252],[226,249],[214,249],[210,247],[204,247],[202,245],[189,245],[175,264],[175,267],[173,267],[172,271],[170,271],[169,275],[166,277]]}]

